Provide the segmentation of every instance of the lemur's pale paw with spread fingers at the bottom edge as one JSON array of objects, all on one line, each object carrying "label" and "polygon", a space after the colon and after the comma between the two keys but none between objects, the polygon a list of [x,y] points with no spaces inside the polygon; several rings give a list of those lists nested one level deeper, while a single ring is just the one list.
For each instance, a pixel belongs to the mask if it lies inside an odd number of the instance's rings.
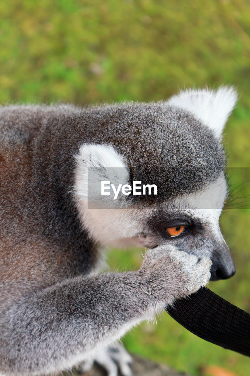
[{"label": "lemur's pale paw with spread fingers at the bottom edge", "polygon": [[80,372],[89,371],[94,362],[107,371],[107,376],[117,376],[118,370],[122,376],[132,376],[130,363],[133,362],[133,359],[121,343],[115,343],[107,349],[98,350],[94,358],[81,365]]}]

